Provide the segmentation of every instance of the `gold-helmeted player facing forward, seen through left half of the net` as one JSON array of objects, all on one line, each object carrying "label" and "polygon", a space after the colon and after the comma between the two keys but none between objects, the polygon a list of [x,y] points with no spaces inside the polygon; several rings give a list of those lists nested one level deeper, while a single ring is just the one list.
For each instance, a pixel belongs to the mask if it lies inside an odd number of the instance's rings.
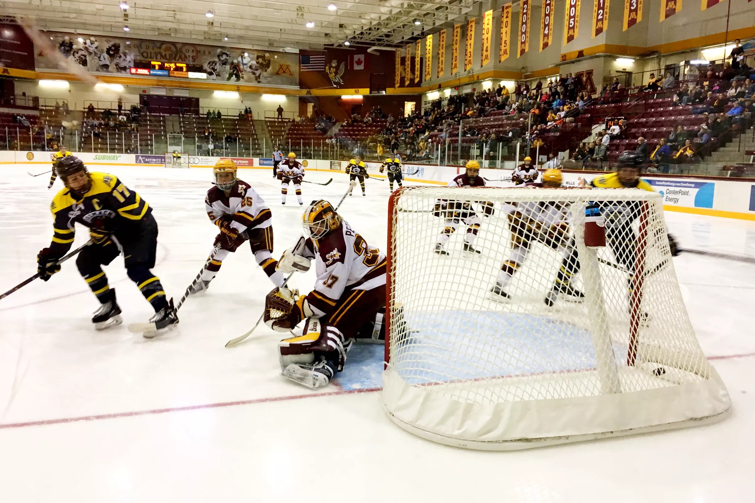
[{"label": "gold-helmeted player facing forward, seen through left half of the net", "polygon": [[[464,174],[457,176],[448,182],[449,187],[482,187],[485,186],[485,180],[482,176],[479,176],[479,162],[468,161],[467,170]],[[482,205],[482,213],[485,216],[491,216],[493,214],[493,204],[489,202],[480,202]],[[445,228],[438,236],[438,240],[435,244],[435,253],[439,255],[448,255],[448,251],[445,250],[445,244],[451,238],[451,235],[456,232],[456,229],[462,223],[467,225],[467,233],[464,235],[464,251],[469,253],[480,253],[475,247],[473,247],[474,241],[477,238],[477,232],[479,232],[479,226],[482,224],[482,220],[477,216],[474,208],[469,202],[452,201],[448,199],[441,199],[435,204],[433,208],[433,215],[439,216],[445,219]]]}]

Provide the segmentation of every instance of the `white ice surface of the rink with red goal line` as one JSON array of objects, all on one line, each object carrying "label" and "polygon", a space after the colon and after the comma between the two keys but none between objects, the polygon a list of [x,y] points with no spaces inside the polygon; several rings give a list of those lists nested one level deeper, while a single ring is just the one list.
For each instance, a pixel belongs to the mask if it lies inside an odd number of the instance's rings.
[{"label": "white ice surface of the rink with red goal line", "polygon": [[[0,177],[2,291],[35,273],[51,238],[54,190],[27,169],[3,167]],[[211,170],[108,171],[153,207],[153,271],[180,298],[217,234],[204,206]],[[307,172],[310,181],[331,177],[302,186],[305,204],[337,203],[347,177]],[[241,169],[239,178],[272,208],[279,256],[301,234],[302,207],[293,191],[280,204],[270,168]],[[389,189],[366,183],[368,195],[357,187],[339,213],[384,250]],[[755,257],[755,222],[665,216],[680,247]],[[74,246],[88,238],[78,229]],[[698,340],[732,396],[727,419],[479,452],[422,440],[387,419],[381,347],[356,347],[319,391],[279,375],[280,335],[267,327],[224,348],[257,321],[272,288],[248,247],[186,301],[177,330],[153,340],[126,328],[152,310],[122,259],[105,270],[124,324],[103,332],[91,325],[97,301],[71,260],[47,283],[0,301],[0,501],[753,501],[755,265],[692,253],[673,262]],[[312,283],[313,271],[291,281],[304,292]]]}]

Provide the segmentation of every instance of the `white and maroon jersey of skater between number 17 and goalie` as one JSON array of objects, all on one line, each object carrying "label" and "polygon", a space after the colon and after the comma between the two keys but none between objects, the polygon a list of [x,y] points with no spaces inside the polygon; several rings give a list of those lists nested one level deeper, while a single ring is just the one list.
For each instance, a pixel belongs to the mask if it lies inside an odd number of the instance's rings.
[{"label": "white and maroon jersey of skater between number 17 and goalie", "polygon": [[273,213],[270,213],[270,208],[265,206],[263,198],[242,180],[236,181],[228,197],[217,187],[208,190],[205,209],[213,223],[222,216],[230,216],[233,221],[231,227],[239,232],[273,225]]}]

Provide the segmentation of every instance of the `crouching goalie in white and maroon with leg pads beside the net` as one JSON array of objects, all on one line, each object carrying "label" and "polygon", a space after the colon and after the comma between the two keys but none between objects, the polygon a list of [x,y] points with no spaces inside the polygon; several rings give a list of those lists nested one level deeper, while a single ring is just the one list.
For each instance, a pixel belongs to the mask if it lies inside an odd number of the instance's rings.
[{"label": "crouching goalie in white and maroon with leg pads beside the net", "polygon": [[367,244],[335,212],[328,201],[312,201],[304,210],[304,233],[309,236],[283,253],[277,270],[307,271],[315,260],[317,279],[306,296],[276,288],[265,299],[264,320],[278,332],[292,330],[302,320],[304,335],[279,342],[282,375],[310,388],[321,388],[344,369],[354,339],[383,343],[377,319],[385,308],[386,258]]}]

